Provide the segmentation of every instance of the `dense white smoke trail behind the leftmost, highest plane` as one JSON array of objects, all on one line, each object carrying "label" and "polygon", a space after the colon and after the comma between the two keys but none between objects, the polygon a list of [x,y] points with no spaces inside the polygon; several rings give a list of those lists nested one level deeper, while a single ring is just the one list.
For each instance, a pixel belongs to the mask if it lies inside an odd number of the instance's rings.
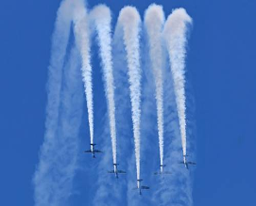
[{"label": "dense white smoke trail behind the leftmost, highest plane", "polygon": [[[74,30],[77,48],[82,58],[82,77],[85,88],[91,144],[94,144],[94,100],[91,66],[89,18],[83,0],[75,0]],[[92,148],[92,147],[91,147]]]}]

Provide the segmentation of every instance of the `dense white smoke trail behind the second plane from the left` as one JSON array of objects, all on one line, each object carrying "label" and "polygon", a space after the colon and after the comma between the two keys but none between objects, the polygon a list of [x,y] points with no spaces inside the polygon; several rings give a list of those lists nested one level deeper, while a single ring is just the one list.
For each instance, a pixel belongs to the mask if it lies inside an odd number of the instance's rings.
[{"label": "dense white smoke trail behind the second plane from the left", "polygon": [[112,158],[113,164],[116,164],[115,103],[111,57],[111,10],[105,5],[99,5],[91,11],[90,17],[92,17],[97,31],[97,40],[105,80],[105,94],[109,109]]}]

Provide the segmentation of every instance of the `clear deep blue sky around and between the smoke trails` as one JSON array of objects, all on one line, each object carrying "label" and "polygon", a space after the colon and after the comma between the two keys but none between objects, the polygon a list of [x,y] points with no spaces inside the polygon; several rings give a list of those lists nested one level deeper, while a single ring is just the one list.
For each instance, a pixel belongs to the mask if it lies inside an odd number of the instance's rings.
[{"label": "clear deep blue sky around and between the smoke trails", "polygon": [[[98,3],[111,7],[115,22],[123,6],[133,5],[143,16],[145,8],[153,2],[89,1],[89,8]],[[162,4],[165,15],[173,8],[183,7],[194,20],[186,67],[188,87],[193,90],[196,102],[194,205],[254,206],[256,2],[155,3]],[[33,0],[0,3],[0,205],[33,205],[31,180],[43,143],[45,83],[59,4],[59,1]],[[98,103],[95,119],[100,119],[106,111],[100,71],[94,73],[94,83],[98,83],[94,90]],[[96,101],[99,99],[103,102]],[[97,122],[95,136],[105,133],[104,120]],[[86,127],[80,131],[82,150],[88,143]],[[84,159],[79,161],[85,168],[78,170],[76,182],[92,185],[93,179],[88,182],[92,160],[81,157]],[[71,201],[73,205],[82,205],[90,198],[82,196],[87,194],[87,188],[82,183],[75,186],[80,195]]]}]

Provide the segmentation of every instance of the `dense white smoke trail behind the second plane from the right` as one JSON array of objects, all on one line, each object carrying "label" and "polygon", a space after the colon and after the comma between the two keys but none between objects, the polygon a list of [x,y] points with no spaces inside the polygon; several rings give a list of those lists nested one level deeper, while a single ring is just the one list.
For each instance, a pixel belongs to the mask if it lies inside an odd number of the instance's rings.
[{"label": "dense white smoke trail behind the second plane from the right", "polygon": [[162,6],[151,5],[145,11],[145,29],[149,41],[149,55],[156,85],[160,163],[163,165],[163,105],[162,105]]}]

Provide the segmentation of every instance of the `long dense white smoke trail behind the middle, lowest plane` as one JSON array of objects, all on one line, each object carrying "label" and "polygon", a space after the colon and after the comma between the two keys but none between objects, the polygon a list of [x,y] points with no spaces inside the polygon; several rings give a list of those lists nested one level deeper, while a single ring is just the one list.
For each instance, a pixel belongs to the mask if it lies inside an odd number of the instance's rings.
[{"label": "long dense white smoke trail behind the middle, lowest plane", "polygon": [[141,18],[136,8],[125,7],[119,13],[115,31],[123,28],[123,39],[127,52],[128,82],[130,90],[133,136],[137,180],[140,179],[140,120],[141,120],[141,68],[140,68]]}]

